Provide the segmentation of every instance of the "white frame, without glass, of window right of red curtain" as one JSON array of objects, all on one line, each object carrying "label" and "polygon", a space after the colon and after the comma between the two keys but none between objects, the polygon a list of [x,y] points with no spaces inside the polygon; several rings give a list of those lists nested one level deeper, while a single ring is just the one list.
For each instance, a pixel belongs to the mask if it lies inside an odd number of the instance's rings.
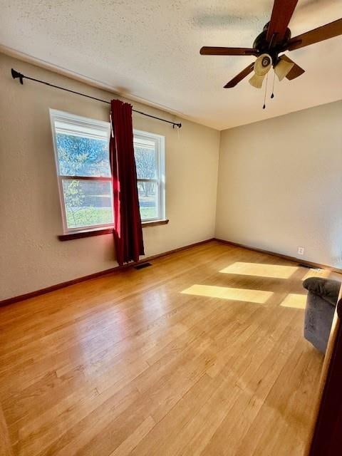
[{"label": "white frame, without glass, of window right of red curtain", "polygon": [[155,143],[155,163],[157,167],[154,179],[139,179],[137,175],[137,185],[139,182],[155,182],[157,184],[158,215],[141,219],[142,224],[150,222],[160,222],[165,220],[165,136],[149,133],[142,130],[133,129],[133,142],[135,138],[149,140]]}]

